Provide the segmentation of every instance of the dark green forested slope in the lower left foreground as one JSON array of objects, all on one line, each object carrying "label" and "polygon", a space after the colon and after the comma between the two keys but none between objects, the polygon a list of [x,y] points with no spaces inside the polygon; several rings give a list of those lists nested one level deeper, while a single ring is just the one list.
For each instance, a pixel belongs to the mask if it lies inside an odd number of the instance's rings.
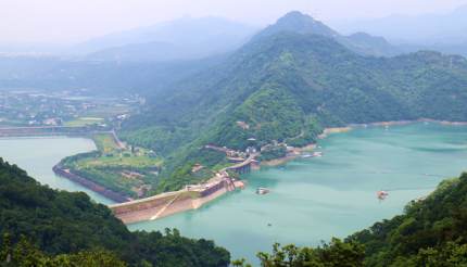
[{"label": "dark green forested slope in the lower left foreground", "polygon": [[[1,266],[38,266],[16,265],[14,262],[3,265],[9,258],[33,260],[34,257],[51,262],[65,257],[81,263],[51,266],[89,266],[83,263],[99,258],[108,264],[105,266],[115,266],[112,263],[121,260],[131,266],[229,264],[229,253],[212,241],[182,238],[177,230],[167,230],[165,234],[130,232],[106,206],[91,202],[85,193],[40,186],[24,170],[1,158],[0,211],[0,234],[9,234],[0,243]],[[12,251],[22,254],[8,256],[5,247],[10,243],[17,243]],[[53,258],[59,254],[61,256]]]}]

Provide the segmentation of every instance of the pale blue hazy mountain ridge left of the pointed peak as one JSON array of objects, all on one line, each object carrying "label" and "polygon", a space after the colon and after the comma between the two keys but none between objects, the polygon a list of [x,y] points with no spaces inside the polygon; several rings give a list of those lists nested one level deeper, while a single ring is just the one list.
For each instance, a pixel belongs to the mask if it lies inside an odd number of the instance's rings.
[{"label": "pale blue hazy mountain ridge left of the pointed peak", "polygon": [[235,50],[256,30],[220,17],[184,17],[94,38],[75,49],[90,60],[190,60]]}]

